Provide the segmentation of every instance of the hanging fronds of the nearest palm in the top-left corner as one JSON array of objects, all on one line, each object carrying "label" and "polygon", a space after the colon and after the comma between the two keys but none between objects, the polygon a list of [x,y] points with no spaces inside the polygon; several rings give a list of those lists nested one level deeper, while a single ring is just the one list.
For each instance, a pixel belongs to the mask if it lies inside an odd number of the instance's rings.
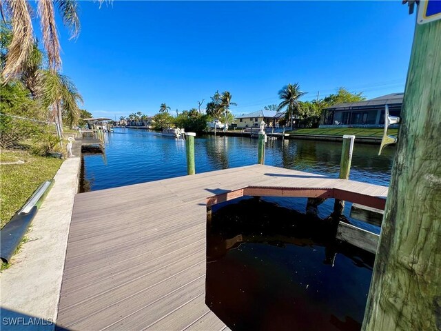
[{"label": "hanging fronds of the nearest palm in the top-left corner", "polygon": [[[8,47],[8,57],[2,72],[6,82],[23,70],[35,43],[31,18],[32,7],[28,2],[30,1],[3,0],[0,2],[1,14],[4,14],[3,19],[10,21],[12,26],[12,41]],[[99,2],[102,3],[103,0]],[[48,54],[48,66],[50,69],[59,70],[61,68],[60,43],[54,7],[57,7],[63,24],[69,28],[72,39],[78,36],[80,31],[78,3],[74,0],[39,0],[37,6],[43,46]]]}]

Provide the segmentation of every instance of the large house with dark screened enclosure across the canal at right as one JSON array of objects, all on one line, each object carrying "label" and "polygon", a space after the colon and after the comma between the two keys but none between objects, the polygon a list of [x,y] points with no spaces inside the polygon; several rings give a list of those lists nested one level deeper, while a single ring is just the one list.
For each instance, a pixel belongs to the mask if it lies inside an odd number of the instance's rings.
[{"label": "large house with dark screened enclosure across the canal at right", "polygon": [[325,108],[320,128],[382,128],[384,109],[391,116],[400,117],[404,93],[391,93],[382,97],[351,103],[338,103]]}]

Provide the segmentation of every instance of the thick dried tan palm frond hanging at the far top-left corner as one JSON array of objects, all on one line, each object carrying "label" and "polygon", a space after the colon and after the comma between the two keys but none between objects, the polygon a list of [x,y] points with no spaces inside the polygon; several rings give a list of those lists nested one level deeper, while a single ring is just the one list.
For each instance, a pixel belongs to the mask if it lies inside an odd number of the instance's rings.
[{"label": "thick dried tan palm frond hanging at the far top-left corner", "polygon": [[8,47],[8,56],[2,72],[4,81],[7,83],[22,70],[32,51],[34,37],[28,2],[26,0],[9,0],[5,5],[6,12],[12,22],[12,41]]}]

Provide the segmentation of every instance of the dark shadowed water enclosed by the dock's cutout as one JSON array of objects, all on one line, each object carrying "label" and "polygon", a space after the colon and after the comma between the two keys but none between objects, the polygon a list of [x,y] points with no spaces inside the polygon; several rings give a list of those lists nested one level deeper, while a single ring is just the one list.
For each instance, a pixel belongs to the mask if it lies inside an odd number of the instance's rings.
[{"label": "dark shadowed water enclosed by the dock's cutout", "polygon": [[360,330],[374,255],[256,198],[215,205],[205,302],[232,330]]}]

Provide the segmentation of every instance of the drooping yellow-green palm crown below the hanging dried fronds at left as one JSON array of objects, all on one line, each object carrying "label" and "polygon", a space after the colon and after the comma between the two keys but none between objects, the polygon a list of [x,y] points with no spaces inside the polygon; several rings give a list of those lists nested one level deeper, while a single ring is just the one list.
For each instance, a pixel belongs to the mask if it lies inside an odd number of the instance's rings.
[{"label": "drooping yellow-green palm crown below the hanging dried fronds at left", "polygon": [[54,70],[41,70],[41,101],[44,108],[52,108],[52,118],[59,123],[63,132],[63,114],[70,127],[78,124],[80,119],[79,102],[83,102],[73,81]]}]

